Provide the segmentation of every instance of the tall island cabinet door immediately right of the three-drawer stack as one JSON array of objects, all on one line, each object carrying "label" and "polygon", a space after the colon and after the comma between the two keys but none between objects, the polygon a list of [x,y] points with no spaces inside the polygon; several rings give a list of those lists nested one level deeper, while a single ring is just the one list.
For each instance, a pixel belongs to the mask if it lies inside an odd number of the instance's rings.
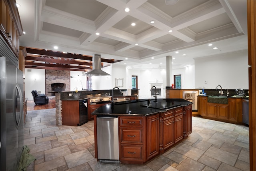
[{"label": "tall island cabinet door immediately right of the three-drawer stack", "polygon": [[147,117],[147,159],[159,153],[159,114]]}]

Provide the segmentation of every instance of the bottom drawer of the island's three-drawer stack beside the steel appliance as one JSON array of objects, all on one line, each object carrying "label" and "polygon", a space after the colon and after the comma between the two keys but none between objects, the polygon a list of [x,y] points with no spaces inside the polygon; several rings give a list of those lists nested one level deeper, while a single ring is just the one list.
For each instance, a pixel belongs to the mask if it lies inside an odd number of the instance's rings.
[{"label": "bottom drawer of the island's three-drawer stack beside the steel appliance", "polygon": [[121,145],[122,159],[142,159],[142,145]]}]

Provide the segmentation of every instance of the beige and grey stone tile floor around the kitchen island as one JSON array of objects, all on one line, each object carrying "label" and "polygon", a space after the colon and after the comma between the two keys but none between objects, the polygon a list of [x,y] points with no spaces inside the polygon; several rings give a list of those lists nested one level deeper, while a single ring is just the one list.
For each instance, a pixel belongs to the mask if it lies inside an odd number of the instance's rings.
[{"label": "beige and grey stone tile floor around the kitchen island", "polygon": [[249,128],[192,117],[192,133],[144,165],[94,158],[94,123],[56,126],[55,109],[28,111],[24,145],[36,161],[28,171],[249,171]]}]

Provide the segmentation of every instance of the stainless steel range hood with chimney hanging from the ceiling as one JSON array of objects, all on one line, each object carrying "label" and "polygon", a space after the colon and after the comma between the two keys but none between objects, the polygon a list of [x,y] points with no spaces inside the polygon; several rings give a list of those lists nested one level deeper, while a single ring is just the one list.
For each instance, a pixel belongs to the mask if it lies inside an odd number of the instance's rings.
[{"label": "stainless steel range hood with chimney hanging from the ceiling", "polygon": [[94,54],[92,57],[92,70],[84,73],[85,76],[111,76],[101,70],[101,55]]}]

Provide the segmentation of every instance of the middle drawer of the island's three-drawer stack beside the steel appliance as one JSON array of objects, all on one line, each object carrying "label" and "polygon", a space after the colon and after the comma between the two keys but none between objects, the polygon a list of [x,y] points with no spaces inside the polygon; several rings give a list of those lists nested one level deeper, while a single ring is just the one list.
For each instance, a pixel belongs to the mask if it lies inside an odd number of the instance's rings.
[{"label": "middle drawer of the island's three-drawer stack beside the steel appliance", "polygon": [[142,129],[120,129],[121,143],[142,143]]}]

